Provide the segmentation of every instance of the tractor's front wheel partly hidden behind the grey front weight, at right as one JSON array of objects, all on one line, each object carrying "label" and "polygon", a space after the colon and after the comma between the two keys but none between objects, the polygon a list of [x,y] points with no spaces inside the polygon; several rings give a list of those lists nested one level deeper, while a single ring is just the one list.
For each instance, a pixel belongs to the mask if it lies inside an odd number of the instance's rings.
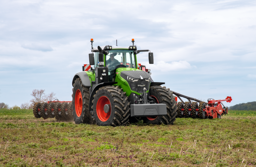
[{"label": "tractor's front wheel partly hidden behind the grey front weight, at right", "polygon": [[166,104],[167,114],[157,117],[142,117],[143,123],[149,124],[173,124],[177,116],[177,101],[170,89],[165,86],[152,86],[149,88],[149,95],[156,99],[159,104]]}]

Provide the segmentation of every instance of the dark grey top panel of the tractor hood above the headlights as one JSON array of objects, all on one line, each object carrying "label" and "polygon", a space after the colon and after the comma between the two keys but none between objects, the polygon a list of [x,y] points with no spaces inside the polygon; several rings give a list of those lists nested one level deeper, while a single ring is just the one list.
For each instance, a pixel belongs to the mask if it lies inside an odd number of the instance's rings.
[{"label": "dark grey top panel of the tractor hood above the headlights", "polygon": [[[136,71],[122,71],[120,76],[124,78],[125,80],[129,80],[127,77],[131,77],[132,79],[146,79],[150,78],[149,73],[146,71],[136,70]],[[125,77],[126,76],[126,77]]]}]

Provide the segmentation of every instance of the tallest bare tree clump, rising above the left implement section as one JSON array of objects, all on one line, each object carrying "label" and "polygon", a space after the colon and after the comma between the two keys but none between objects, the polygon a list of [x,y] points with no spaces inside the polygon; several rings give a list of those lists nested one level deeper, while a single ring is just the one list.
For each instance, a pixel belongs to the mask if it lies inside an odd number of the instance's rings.
[{"label": "tallest bare tree clump, rising above the left implement section", "polygon": [[34,89],[31,93],[31,96],[33,96],[33,98],[30,100],[30,102],[32,103],[32,106],[36,103],[43,103],[43,102],[47,102],[47,101],[53,101],[56,97],[55,97],[55,93],[49,93],[49,94],[45,94],[45,89]]}]

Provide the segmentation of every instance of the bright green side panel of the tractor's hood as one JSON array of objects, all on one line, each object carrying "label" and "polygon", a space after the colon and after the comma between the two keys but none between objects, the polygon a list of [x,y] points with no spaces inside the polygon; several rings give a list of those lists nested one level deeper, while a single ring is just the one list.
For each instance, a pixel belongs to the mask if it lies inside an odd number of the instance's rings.
[{"label": "bright green side panel of the tractor's hood", "polygon": [[[116,79],[115,79],[115,82],[117,82],[117,84],[115,85],[119,86],[120,88],[123,88],[123,91],[126,92],[126,96],[130,96],[131,93],[140,95],[140,93],[131,90],[128,82],[120,76],[122,71],[141,71],[141,70],[133,69],[133,68],[125,68],[125,67],[118,68],[116,69]],[[149,88],[147,88],[147,93],[148,91],[149,91]]]}]

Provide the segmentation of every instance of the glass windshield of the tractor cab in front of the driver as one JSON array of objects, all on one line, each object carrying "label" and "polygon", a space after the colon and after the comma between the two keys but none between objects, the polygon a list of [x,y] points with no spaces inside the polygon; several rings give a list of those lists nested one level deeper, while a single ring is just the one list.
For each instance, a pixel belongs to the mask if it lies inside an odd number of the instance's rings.
[{"label": "glass windshield of the tractor cab in front of the driver", "polygon": [[123,64],[129,68],[135,68],[135,59],[131,50],[109,50],[106,55],[106,64],[109,72],[116,69],[117,65]]}]

